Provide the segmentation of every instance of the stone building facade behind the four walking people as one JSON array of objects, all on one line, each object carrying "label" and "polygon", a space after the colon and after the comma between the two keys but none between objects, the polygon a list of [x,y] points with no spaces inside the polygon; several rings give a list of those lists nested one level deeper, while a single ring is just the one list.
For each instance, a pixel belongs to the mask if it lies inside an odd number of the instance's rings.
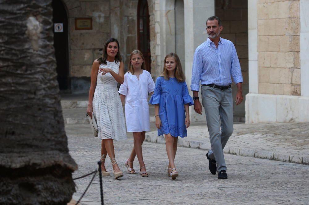
[{"label": "stone building facade behind the four walking people", "polygon": [[[120,43],[125,70],[139,49],[154,79],[165,55],[176,52],[190,85],[194,50],[208,37],[206,19],[216,15],[243,73],[245,103],[234,106],[235,121],[309,121],[308,7],[306,0],[53,0],[54,23],[63,22],[54,33],[60,88],[88,92],[92,62],[110,37]],[[205,121],[193,106],[190,114]]]}]

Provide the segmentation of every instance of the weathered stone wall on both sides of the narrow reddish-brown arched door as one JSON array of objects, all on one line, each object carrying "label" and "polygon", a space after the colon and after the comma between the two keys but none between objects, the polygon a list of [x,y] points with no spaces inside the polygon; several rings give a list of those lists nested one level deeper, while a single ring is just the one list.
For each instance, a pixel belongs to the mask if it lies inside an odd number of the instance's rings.
[{"label": "weathered stone wall on both sides of the narrow reddish-brown arched door", "polygon": [[[64,0],[69,18],[69,66],[72,93],[87,93],[93,61],[102,56],[104,42],[111,37],[120,43],[125,71],[129,56],[137,49],[138,0]],[[157,76],[155,10],[159,1],[148,0],[150,51],[153,76]],[[92,18],[92,30],[75,30],[75,18]],[[160,39],[159,39],[160,40]]]}]

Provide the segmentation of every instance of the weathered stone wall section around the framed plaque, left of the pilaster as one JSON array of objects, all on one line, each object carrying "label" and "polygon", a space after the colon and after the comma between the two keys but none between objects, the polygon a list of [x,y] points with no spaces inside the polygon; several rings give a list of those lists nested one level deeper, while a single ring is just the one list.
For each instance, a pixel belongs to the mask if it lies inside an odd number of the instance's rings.
[{"label": "weathered stone wall section around the framed plaque, left of the pilaster", "polygon": [[[102,56],[110,38],[110,1],[63,1],[69,18],[69,70],[71,91],[87,93],[94,59]],[[75,30],[75,18],[92,18],[92,30]]]}]

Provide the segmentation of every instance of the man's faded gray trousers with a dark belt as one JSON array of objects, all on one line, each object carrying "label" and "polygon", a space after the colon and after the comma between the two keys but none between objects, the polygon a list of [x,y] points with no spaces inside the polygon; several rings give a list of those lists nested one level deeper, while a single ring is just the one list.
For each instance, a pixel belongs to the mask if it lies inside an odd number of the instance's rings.
[{"label": "man's faded gray trousers with a dark belt", "polygon": [[233,133],[232,89],[220,90],[202,86],[202,102],[211,145],[208,156],[216,160],[219,173],[226,170],[223,148]]}]

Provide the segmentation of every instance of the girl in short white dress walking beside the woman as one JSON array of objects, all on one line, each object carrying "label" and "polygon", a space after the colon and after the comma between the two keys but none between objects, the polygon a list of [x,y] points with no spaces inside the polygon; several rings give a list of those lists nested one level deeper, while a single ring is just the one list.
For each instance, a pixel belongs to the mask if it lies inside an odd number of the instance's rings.
[{"label": "girl in short white dress walking beside the woman", "polygon": [[127,131],[133,132],[134,147],[129,159],[125,162],[130,174],[135,174],[133,161],[137,155],[140,174],[148,176],[143,160],[142,143],[145,132],[150,131],[148,93],[153,94],[155,82],[151,74],[145,70],[144,56],[141,51],[134,50],[130,55],[129,71],[120,86],[121,102],[125,100],[125,120]]}]

